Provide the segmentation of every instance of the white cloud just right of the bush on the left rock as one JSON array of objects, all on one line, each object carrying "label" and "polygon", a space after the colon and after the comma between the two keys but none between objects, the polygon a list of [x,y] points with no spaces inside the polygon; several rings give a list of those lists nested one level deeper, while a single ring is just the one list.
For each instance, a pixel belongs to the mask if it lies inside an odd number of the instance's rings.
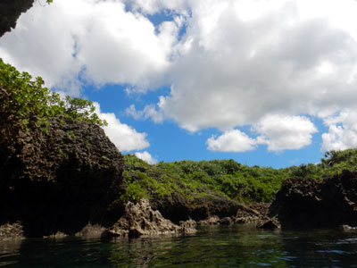
[{"label": "white cloud just right of the bush on the left rock", "polygon": [[142,150],[150,146],[146,140],[146,133],[139,133],[129,125],[121,123],[114,113],[102,113],[97,103],[95,108],[99,118],[108,122],[108,126],[103,129],[120,152]]}]

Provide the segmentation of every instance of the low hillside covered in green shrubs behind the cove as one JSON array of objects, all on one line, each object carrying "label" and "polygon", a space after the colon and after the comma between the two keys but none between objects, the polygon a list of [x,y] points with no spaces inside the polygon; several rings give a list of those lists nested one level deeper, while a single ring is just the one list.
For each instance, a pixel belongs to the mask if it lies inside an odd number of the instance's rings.
[{"label": "low hillside covered in green shrubs behind the cove", "polygon": [[270,202],[282,181],[291,177],[323,180],[357,166],[357,149],[330,151],[321,163],[284,169],[249,167],[234,160],[179,161],[148,164],[135,155],[124,155],[128,188],[123,201],[141,197],[167,197],[175,193],[192,202],[223,196],[244,203]]}]

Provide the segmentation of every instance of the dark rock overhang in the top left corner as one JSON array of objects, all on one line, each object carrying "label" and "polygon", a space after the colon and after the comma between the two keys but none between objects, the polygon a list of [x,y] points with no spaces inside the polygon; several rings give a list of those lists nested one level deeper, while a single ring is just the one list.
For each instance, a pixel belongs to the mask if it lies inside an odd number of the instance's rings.
[{"label": "dark rock overhang in the top left corner", "polygon": [[0,1],[0,38],[6,31],[14,29],[21,13],[25,13],[34,0],[2,0]]}]

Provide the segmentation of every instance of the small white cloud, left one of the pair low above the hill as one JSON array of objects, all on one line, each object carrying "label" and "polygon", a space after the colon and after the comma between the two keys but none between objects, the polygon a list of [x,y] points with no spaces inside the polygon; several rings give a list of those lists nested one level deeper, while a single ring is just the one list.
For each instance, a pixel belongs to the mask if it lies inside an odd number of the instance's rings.
[{"label": "small white cloud, left one of the pair low above the hill", "polygon": [[240,130],[228,130],[218,138],[208,138],[206,144],[211,151],[241,153],[253,150],[257,142]]}]

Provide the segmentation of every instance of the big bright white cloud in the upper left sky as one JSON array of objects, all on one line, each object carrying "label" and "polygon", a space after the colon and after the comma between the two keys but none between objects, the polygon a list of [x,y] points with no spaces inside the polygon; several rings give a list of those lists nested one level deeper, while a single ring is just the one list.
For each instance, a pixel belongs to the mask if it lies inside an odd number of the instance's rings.
[{"label": "big bright white cloud in the upper left sky", "polygon": [[177,31],[175,21],[155,29],[120,1],[35,3],[1,38],[0,54],[72,95],[79,95],[79,76],[98,86],[128,83],[146,90],[162,84]]}]

